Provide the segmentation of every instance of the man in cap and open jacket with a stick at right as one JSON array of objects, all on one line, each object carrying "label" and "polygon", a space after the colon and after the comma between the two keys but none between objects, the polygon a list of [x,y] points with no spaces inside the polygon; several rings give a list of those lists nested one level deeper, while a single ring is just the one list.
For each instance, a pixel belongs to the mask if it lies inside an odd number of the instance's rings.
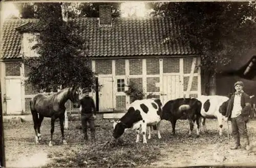
[{"label": "man in cap and open jacket with a stick at right", "polygon": [[243,91],[244,84],[241,81],[234,83],[236,90],[231,94],[227,105],[226,117],[231,121],[232,135],[234,137],[235,145],[230,149],[239,149],[240,137],[244,140],[245,147],[249,146],[249,139],[246,129],[249,113],[251,109],[250,97]]}]

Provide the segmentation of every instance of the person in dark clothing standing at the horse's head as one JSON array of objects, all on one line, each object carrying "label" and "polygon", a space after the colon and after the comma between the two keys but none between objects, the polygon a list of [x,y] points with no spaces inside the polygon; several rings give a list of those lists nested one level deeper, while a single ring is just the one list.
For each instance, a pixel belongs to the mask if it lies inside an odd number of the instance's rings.
[{"label": "person in dark clothing standing at the horse's head", "polygon": [[94,120],[96,119],[96,109],[92,98],[89,97],[90,90],[84,89],[85,96],[80,100],[81,104],[81,123],[83,139],[88,140],[87,122],[90,125],[91,139],[95,140]]}]

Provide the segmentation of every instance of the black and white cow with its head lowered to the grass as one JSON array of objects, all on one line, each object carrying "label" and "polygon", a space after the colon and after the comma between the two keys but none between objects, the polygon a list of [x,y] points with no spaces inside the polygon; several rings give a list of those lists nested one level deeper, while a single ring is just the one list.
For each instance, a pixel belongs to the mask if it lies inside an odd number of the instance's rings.
[{"label": "black and white cow with its head lowered to the grass", "polygon": [[[113,123],[113,137],[116,139],[120,137],[124,130],[132,128],[136,130],[137,138],[136,142],[139,142],[139,133],[143,134],[143,143],[147,143],[146,140],[146,128],[147,126],[155,126],[158,132],[158,138],[161,138],[159,132],[159,125],[162,115],[162,103],[158,99],[143,99],[134,101],[127,112],[119,119],[119,121]],[[149,129],[148,139],[151,138],[151,129]]]}]

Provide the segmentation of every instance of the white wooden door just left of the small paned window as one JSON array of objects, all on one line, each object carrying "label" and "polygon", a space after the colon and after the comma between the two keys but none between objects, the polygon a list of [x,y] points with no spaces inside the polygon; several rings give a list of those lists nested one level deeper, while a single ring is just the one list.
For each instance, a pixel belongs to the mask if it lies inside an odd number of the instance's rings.
[{"label": "white wooden door just left of the small paned window", "polygon": [[113,111],[113,79],[112,77],[99,77],[102,85],[99,91],[99,112]]}]

